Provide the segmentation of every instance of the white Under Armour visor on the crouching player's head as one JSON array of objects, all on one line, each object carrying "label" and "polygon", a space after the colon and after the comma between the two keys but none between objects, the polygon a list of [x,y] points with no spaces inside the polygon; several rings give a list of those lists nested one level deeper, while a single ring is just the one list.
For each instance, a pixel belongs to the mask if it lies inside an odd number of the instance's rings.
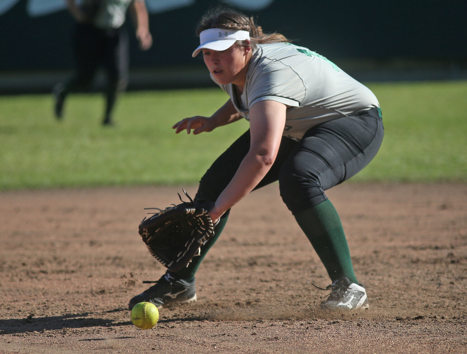
[{"label": "white Under Armour visor on the crouching player's head", "polygon": [[201,49],[226,50],[232,47],[237,41],[245,41],[250,39],[248,31],[224,28],[209,28],[199,34],[199,47],[191,56],[195,57]]}]

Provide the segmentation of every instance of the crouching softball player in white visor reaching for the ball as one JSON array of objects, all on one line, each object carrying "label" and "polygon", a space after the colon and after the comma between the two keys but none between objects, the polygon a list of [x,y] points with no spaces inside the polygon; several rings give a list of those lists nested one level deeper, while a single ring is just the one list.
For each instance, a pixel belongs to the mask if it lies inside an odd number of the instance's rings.
[{"label": "crouching softball player in white visor reaching for the ball", "polygon": [[325,190],[358,173],[383,139],[375,95],[319,54],[263,34],[236,12],[207,14],[197,34],[212,80],[230,99],[211,117],[185,118],[176,132],[199,134],[248,119],[250,129],[214,161],[197,199],[215,201],[215,236],[187,268],[166,272],[156,285],[130,300],[161,306],[196,300],[195,273],[226,225],[230,208],[252,190],[276,180],[282,199],[310,240],[331,279],[326,308],[368,306],[352,266],[339,215]]}]

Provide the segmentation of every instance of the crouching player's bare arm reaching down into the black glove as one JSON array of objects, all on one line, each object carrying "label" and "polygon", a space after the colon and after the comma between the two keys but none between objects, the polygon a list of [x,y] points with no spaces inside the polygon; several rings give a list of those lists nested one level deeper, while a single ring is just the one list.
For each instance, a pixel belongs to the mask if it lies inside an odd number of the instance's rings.
[{"label": "crouching player's bare arm reaching down into the black glove", "polygon": [[214,222],[248,195],[268,173],[281,144],[286,109],[285,104],[276,101],[260,101],[251,107],[250,149],[209,212]]}]

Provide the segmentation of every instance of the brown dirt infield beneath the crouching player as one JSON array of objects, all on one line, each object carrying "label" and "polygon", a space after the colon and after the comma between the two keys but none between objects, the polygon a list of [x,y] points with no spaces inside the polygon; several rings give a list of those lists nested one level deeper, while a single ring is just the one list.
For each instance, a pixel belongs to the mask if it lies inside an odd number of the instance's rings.
[{"label": "brown dirt infield beneath the crouching player", "polygon": [[[195,186],[184,186],[195,194]],[[0,353],[467,353],[467,185],[328,191],[370,308],[320,312],[324,267],[277,185],[250,194],[151,330],[128,300],[163,267],[137,233],[182,187],[0,193]]]}]

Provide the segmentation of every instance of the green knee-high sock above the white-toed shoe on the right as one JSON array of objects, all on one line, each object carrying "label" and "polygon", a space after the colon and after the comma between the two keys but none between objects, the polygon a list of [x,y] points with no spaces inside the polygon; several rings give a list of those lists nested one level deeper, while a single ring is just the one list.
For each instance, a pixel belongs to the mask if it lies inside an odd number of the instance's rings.
[{"label": "green knee-high sock above the white-toed shoe on the right", "polygon": [[347,277],[352,283],[358,284],[344,229],[333,203],[323,201],[298,213],[295,219],[323,262],[331,280],[334,282]]}]

